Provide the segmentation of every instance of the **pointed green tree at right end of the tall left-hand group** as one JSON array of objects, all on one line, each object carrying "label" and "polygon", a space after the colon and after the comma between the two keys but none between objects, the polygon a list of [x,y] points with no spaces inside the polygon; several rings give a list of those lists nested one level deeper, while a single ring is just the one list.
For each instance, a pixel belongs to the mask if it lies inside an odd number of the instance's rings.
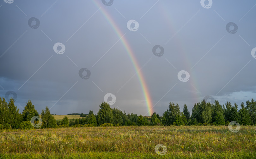
[{"label": "pointed green tree at right end of the tall left-hand group", "polygon": [[42,109],[41,119],[43,121],[42,128],[54,128],[57,127],[55,118],[51,115],[50,110],[46,106],[45,111]]}]

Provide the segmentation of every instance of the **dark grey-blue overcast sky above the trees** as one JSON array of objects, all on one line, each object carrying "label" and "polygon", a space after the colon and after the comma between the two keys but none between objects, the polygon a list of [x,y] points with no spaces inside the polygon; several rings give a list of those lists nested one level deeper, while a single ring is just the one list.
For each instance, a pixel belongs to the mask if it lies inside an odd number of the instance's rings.
[{"label": "dark grey-blue overcast sky above the trees", "polygon": [[0,0],[0,96],[62,115],[96,113],[111,93],[112,108],[149,115],[141,75],[160,115],[169,102],[191,112],[205,96],[240,105],[256,99],[255,5]]}]

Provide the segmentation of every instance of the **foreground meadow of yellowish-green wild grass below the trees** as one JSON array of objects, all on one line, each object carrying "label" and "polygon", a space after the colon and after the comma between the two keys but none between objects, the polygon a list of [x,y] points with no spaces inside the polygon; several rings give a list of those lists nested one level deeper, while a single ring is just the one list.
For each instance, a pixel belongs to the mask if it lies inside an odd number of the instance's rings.
[{"label": "foreground meadow of yellowish-green wild grass below the trees", "polygon": [[[82,127],[1,130],[1,159],[256,158],[256,127]],[[165,155],[156,154],[163,144]],[[162,151],[162,149],[160,149]]]}]

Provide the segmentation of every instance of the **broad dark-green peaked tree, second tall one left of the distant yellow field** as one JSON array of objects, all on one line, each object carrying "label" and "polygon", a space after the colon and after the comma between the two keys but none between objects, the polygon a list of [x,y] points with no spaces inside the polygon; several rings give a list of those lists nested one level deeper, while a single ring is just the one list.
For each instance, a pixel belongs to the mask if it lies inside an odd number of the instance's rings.
[{"label": "broad dark-green peaked tree, second tall one left of the distant yellow field", "polygon": [[33,116],[39,116],[39,114],[31,100],[28,100],[27,105],[22,110],[23,121],[30,121]]}]

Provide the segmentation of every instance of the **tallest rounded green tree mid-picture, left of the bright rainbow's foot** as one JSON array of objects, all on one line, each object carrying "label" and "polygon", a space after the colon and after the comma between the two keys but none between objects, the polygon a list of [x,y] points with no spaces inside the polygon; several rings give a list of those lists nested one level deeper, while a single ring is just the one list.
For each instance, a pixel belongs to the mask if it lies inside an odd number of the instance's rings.
[{"label": "tallest rounded green tree mid-picture, left of the bright rainbow's foot", "polygon": [[104,123],[113,123],[113,112],[108,103],[102,102],[98,111],[99,125]]}]

